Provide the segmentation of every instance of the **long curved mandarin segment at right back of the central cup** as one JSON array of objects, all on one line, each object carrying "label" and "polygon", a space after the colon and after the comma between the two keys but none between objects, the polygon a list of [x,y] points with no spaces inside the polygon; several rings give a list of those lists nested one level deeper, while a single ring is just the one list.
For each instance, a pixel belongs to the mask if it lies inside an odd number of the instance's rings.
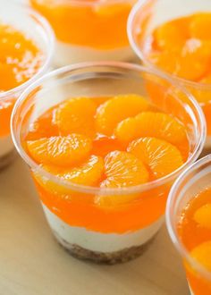
[{"label": "long curved mandarin segment at right back of the central cup", "polygon": [[165,139],[173,145],[180,145],[187,139],[185,127],[168,114],[143,112],[135,118],[126,119],[117,125],[117,139],[131,141],[140,137]]}]

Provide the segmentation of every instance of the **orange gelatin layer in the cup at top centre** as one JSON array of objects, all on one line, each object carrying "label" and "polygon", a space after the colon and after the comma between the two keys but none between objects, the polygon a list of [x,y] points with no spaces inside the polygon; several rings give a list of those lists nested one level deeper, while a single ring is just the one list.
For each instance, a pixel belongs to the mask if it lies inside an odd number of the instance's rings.
[{"label": "orange gelatin layer in the cup at top centre", "polygon": [[135,1],[30,2],[51,23],[56,37],[62,42],[98,49],[129,46],[126,25]]}]

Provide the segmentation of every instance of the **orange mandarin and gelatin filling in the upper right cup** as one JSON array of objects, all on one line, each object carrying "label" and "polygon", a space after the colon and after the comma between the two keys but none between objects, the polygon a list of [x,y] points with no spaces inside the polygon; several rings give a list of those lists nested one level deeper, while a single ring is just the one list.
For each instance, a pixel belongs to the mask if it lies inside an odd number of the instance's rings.
[{"label": "orange mandarin and gelatin filling in the upper right cup", "polygon": [[[194,13],[159,25],[144,40],[146,57],[165,72],[210,85],[210,23],[211,13]],[[188,88],[204,110],[211,135],[211,89]]]}]

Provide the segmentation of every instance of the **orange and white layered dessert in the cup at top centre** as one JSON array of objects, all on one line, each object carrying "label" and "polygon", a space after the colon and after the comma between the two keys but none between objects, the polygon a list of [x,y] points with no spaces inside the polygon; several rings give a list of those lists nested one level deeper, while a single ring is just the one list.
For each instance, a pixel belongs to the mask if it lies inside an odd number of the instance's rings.
[{"label": "orange and white layered dessert in the cup at top centre", "polygon": [[129,61],[126,24],[135,0],[30,0],[50,22],[57,38],[55,64]]}]

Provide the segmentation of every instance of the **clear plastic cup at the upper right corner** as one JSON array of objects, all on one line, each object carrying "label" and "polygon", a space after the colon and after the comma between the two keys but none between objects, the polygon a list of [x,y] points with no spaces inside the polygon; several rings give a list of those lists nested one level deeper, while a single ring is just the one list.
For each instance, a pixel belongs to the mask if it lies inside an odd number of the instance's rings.
[{"label": "clear plastic cup at the upper right corner", "polygon": [[[211,2],[207,0],[143,0],[135,4],[128,20],[128,37],[132,49],[139,56],[141,62],[155,71],[164,70],[148,60],[146,54],[146,40],[156,27],[166,21],[187,16],[193,13],[211,13]],[[186,87],[198,100],[207,119],[207,142],[205,148],[211,150],[211,84],[203,84],[184,80],[165,72],[182,86]]]}]

